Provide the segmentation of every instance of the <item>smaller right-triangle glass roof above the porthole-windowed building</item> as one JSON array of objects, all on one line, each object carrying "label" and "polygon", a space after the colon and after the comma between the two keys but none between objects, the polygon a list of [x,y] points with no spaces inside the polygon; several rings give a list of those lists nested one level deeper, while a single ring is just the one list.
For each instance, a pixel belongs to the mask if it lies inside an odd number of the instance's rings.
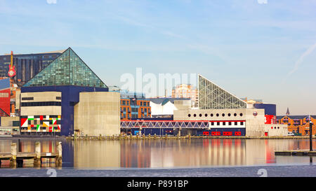
[{"label": "smaller right-triangle glass roof above the porthole-windowed building", "polygon": [[242,99],[235,97],[215,83],[199,75],[199,109],[246,108]]}]

